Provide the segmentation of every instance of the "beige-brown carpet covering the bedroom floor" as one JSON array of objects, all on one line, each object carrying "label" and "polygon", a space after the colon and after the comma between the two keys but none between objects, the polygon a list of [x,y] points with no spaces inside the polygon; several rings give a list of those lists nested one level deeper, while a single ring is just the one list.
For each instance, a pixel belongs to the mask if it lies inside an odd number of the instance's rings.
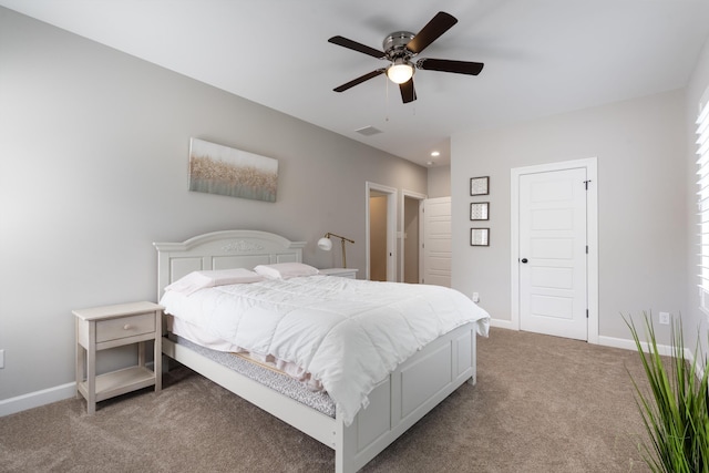
[{"label": "beige-brown carpet covering the bedroom floor", "polygon": [[[492,329],[464,384],[363,472],[646,472],[638,354]],[[0,418],[2,472],[332,472],[330,449],[186,369]]]}]

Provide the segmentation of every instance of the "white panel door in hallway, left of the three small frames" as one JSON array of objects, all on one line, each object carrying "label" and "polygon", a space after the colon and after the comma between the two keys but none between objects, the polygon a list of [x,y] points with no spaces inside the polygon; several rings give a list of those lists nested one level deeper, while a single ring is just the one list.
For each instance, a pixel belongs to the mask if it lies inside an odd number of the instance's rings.
[{"label": "white panel door in hallway, left of the three small frames", "polygon": [[451,197],[423,202],[421,282],[451,287]]}]

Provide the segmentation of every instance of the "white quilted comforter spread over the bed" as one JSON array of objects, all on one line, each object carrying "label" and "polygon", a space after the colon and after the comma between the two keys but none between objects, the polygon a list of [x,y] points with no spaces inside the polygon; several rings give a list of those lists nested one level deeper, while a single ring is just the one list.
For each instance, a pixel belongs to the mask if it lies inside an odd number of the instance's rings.
[{"label": "white quilted comforter spread over the bed", "polygon": [[167,291],[165,311],[247,351],[301,367],[320,380],[346,425],[393,369],[466,322],[487,336],[490,316],[440,286],[331,276]]}]

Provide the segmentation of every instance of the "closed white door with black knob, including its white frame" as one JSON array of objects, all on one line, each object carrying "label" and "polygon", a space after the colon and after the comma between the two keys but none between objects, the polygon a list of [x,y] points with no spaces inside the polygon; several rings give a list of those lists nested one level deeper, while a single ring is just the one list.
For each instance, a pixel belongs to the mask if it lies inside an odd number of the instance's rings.
[{"label": "closed white door with black knob, including its white frame", "polygon": [[596,158],[511,173],[512,325],[598,342]]}]

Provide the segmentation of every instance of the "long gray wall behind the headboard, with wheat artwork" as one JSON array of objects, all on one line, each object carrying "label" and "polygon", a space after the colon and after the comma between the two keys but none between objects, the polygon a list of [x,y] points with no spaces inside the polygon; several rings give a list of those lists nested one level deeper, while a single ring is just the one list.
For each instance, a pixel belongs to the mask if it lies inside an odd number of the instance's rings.
[{"label": "long gray wall behind the headboard, with wheat artwork", "polygon": [[[191,136],[277,158],[277,202],[188,192]],[[260,229],[328,267],[333,232],[363,275],[367,181],[427,192],[421,166],[0,8],[0,400],[73,380],[72,309],[155,300],[153,241]]]}]

